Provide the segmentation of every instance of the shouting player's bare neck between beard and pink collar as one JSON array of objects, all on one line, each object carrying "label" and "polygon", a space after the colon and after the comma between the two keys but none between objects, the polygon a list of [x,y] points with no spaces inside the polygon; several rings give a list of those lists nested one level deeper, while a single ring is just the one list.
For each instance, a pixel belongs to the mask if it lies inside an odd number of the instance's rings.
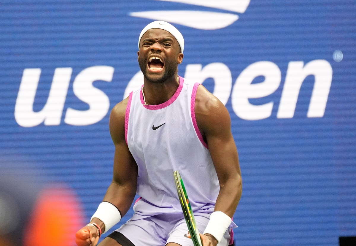
[{"label": "shouting player's bare neck between beard and pink collar", "polygon": [[179,86],[179,77],[174,75],[171,79],[166,80],[163,83],[152,83],[148,82],[146,79],[143,83],[143,95],[145,102],[148,105],[158,105],[165,103],[172,98],[174,93],[176,93]]}]

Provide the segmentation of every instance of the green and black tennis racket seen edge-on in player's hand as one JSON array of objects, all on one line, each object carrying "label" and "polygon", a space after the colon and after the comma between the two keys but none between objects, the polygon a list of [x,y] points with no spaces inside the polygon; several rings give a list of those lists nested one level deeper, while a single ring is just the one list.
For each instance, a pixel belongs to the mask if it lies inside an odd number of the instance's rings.
[{"label": "green and black tennis racket seen edge-on in player's hand", "polygon": [[174,174],[174,180],[176,181],[178,198],[180,201],[180,205],[182,206],[185,222],[187,222],[190,236],[192,237],[194,246],[201,246],[201,240],[200,240],[197,223],[195,223],[193,210],[189,203],[187,191],[185,190],[183,184],[183,179],[182,177],[180,177],[178,171],[174,171],[173,174]]}]

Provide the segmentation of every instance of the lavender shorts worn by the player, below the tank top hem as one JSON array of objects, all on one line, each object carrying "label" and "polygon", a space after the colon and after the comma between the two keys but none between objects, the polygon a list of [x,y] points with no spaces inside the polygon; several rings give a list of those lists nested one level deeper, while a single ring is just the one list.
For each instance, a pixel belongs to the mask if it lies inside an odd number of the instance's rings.
[{"label": "lavender shorts worn by the player, below the tank top hem", "polygon": [[[209,222],[210,214],[194,213],[195,222],[200,233],[203,233]],[[182,246],[193,246],[192,239],[187,237],[188,227],[182,215],[156,215],[144,219],[129,220],[116,231],[123,234],[135,246],[164,246],[175,242]],[[230,231],[230,233],[229,233]],[[229,245],[231,229],[226,230],[218,246]]]}]

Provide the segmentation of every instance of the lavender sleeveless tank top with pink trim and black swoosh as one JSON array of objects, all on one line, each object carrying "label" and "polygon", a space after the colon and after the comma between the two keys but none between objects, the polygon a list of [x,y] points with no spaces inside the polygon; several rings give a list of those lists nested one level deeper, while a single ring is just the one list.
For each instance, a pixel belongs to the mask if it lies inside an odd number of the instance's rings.
[{"label": "lavender sleeveless tank top with pink trim and black swoosh", "polygon": [[141,89],[129,95],[125,138],[138,166],[137,194],[132,220],[158,214],[182,214],[173,171],[183,178],[194,212],[212,213],[219,181],[208,145],[195,120],[199,84],[179,77],[171,99],[143,105]]}]

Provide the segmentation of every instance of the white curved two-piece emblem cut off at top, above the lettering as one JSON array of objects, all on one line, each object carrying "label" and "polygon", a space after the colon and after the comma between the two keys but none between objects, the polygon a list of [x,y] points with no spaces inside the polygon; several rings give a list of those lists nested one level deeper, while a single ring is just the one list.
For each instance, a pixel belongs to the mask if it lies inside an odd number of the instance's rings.
[{"label": "white curved two-piece emblem cut off at top, above the lettering", "polygon": [[[250,0],[156,0],[167,2],[180,2],[184,4],[199,5],[215,9],[229,10],[244,13]],[[220,13],[215,11],[143,11],[131,12],[131,16],[152,20],[162,20],[201,30],[216,30],[231,25],[239,16],[237,14]]]}]

